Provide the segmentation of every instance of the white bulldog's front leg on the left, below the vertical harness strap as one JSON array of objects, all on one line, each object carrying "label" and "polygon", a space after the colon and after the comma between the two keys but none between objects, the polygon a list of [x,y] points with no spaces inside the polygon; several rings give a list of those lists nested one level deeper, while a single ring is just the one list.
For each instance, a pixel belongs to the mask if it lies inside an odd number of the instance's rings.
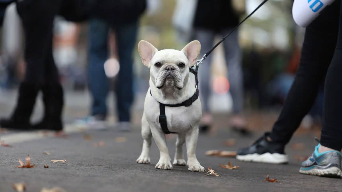
[{"label": "white bulldog's front leg on the left, below the vertical harness strap", "polygon": [[157,169],[173,169],[171,164],[171,159],[169,155],[169,149],[166,145],[165,134],[156,127],[151,126],[152,136],[156,141],[156,144],[159,148],[160,159],[156,165]]}]

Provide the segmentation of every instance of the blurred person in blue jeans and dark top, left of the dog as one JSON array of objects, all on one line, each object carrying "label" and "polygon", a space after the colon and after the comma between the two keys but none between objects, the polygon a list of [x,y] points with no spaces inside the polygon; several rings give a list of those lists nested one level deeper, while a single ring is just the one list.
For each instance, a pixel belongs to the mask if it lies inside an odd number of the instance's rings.
[{"label": "blurred person in blue jeans and dark top, left of the dog", "polygon": [[[97,11],[100,17],[90,19],[87,75],[92,104],[90,115],[76,120],[76,124],[98,129],[106,127],[109,81],[105,74],[104,63],[108,59],[108,34],[109,29],[112,28],[115,31],[120,64],[115,89],[118,121],[121,131],[129,131],[131,129],[130,108],[134,98],[132,53],[136,43],[139,18],[146,8],[146,0],[116,1],[111,4],[119,6],[126,4],[126,8],[131,10],[130,16],[122,15],[122,17],[112,19],[113,22],[108,22],[108,19],[104,20],[104,17],[101,17],[104,14]],[[105,6],[102,7],[105,8]]]}]

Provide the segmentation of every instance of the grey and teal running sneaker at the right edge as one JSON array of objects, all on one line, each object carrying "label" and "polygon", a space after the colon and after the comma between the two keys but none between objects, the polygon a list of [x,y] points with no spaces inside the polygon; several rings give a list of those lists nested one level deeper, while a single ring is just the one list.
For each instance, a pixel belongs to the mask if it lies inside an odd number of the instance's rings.
[{"label": "grey and teal running sneaker at the right edge", "polygon": [[341,159],[339,151],[318,153],[320,144],[315,147],[312,155],[302,163],[299,173],[322,177],[342,177]]}]

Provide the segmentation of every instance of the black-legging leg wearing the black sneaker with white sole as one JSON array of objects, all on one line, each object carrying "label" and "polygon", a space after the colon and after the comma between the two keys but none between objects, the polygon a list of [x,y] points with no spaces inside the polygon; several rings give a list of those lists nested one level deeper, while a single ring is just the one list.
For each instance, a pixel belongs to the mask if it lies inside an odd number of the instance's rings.
[{"label": "black-legging leg wearing the black sneaker with white sole", "polygon": [[310,111],[331,62],[338,31],[340,2],[330,6],[306,28],[300,66],[272,132],[238,151],[237,159],[286,163],[285,145]]}]

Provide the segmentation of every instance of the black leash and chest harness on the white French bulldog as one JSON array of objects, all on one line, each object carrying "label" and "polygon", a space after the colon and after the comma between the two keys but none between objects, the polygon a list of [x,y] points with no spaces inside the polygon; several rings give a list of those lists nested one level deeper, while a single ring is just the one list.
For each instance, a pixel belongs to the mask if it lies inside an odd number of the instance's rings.
[{"label": "black leash and chest harness on the white French bulldog", "polygon": [[[204,59],[207,58],[207,56],[217,47],[219,46],[219,44],[221,44],[228,36],[230,36],[242,23],[244,23],[251,15],[253,15],[255,13],[255,11],[257,11],[263,4],[265,4],[268,0],[264,0],[263,2],[260,3],[260,5],[254,9],[254,11],[252,13],[250,13],[244,20],[242,20],[236,27],[233,28],[233,30],[231,32],[228,33],[228,35],[224,36],[218,43],[216,43],[213,48],[211,50],[209,50],[206,54],[203,55],[203,57],[199,60],[196,61],[196,64],[190,68],[190,72],[192,72],[195,75],[195,81],[196,81],[196,92],[195,94],[190,97],[189,99],[185,100],[184,102],[180,103],[180,104],[162,104],[159,102],[159,111],[160,111],[160,115],[159,115],[159,123],[161,126],[161,129],[163,130],[163,132],[165,134],[170,134],[170,133],[175,133],[175,132],[170,132],[168,129],[168,124],[166,121],[166,114],[165,114],[165,106],[167,107],[181,107],[181,106],[185,106],[188,107],[190,105],[193,104],[193,102],[198,98],[199,92],[198,92],[198,77],[197,77],[197,71],[198,71],[198,65],[200,63],[202,63],[202,61]],[[150,90],[150,94],[152,96],[151,90]]]}]

